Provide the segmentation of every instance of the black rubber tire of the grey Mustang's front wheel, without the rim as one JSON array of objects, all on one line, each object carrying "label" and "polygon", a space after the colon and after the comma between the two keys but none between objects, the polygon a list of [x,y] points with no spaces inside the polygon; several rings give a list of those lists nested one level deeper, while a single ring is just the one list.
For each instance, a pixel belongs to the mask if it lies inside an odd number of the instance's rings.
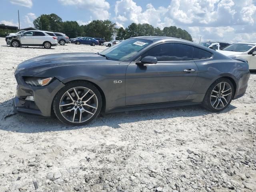
[{"label": "black rubber tire of the grey Mustang's front wheel, without the rim", "polygon": [[[62,99],[62,96],[70,89],[72,88],[77,88],[77,87],[84,87],[87,89],[92,90],[92,92],[95,94],[96,98],[97,98],[97,102],[98,102],[98,106],[96,111],[94,112],[94,115],[91,116],[88,120],[84,121],[84,122],[71,122],[69,120],[67,120],[66,118],[64,118],[64,116],[62,116],[61,112],[60,112],[60,101]],[[85,98],[84,98],[85,99]],[[82,101],[81,101],[82,102]],[[99,90],[90,82],[86,82],[86,81],[74,81],[74,82],[70,82],[67,83],[65,87],[63,87],[54,97],[53,100],[53,110],[55,115],[57,116],[57,118],[64,124],[68,124],[68,125],[73,125],[73,126],[81,126],[81,125],[85,125],[88,124],[90,122],[92,122],[99,114],[102,108],[102,97],[101,94],[99,92]]]}]

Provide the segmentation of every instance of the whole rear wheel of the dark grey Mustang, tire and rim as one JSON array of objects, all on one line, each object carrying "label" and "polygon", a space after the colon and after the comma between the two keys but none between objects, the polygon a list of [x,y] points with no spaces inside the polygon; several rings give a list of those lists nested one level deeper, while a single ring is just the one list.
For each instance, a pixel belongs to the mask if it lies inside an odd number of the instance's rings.
[{"label": "whole rear wheel of the dark grey Mustang, tire and rim", "polygon": [[219,78],[208,88],[202,106],[213,112],[226,109],[234,97],[234,85],[227,78]]}]

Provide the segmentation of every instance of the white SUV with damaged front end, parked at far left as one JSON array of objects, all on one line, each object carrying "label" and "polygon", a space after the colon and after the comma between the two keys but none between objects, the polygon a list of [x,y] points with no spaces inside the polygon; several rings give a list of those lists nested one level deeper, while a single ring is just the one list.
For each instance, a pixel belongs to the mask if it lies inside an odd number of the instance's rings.
[{"label": "white SUV with damaged front end, parked at far left", "polygon": [[52,46],[56,46],[58,41],[53,32],[30,30],[16,36],[7,36],[6,43],[13,47],[43,46],[50,49]]}]

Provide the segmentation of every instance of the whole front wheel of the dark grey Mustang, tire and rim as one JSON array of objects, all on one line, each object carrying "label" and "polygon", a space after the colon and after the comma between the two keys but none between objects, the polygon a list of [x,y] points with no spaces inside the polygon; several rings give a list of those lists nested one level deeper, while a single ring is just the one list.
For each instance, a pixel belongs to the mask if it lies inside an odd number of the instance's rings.
[{"label": "whole front wheel of the dark grey Mustang, tire and rim", "polygon": [[55,115],[68,125],[81,126],[92,122],[100,114],[101,108],[102,97],[99,90],[85,81],[66,84],[53,100]]}]

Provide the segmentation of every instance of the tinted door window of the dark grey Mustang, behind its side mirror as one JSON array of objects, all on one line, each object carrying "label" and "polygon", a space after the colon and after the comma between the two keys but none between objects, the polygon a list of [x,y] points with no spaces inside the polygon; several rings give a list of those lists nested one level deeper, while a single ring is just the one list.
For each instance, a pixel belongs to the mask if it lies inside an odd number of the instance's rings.
[{"label": "tinted door window of the dark grey Mustang, behind its side mirror", "polygon": [[154,56],[158,61],[188,61],[193,60],[193,47],[179,43],[164,43],[151,48],[142,54],[141,58],[146,56]]}]

